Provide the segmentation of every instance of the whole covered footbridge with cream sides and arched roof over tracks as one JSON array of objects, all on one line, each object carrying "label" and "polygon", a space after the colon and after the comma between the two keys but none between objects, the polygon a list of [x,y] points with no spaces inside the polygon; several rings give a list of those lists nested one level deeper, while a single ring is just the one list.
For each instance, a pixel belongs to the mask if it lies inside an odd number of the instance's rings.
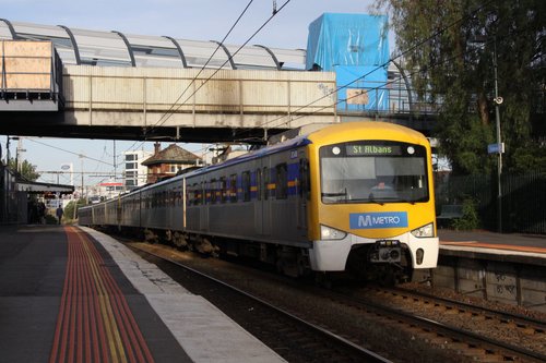
[{"label": "whole covered footbridge with cream sides and arched roof over tracks", "polygon": [[[0,19],[0,134],[261,142],[306,124],[363,118],[340,109],[335,73],[305,72],[305,58],[300,49]],[[404,123],[411,93],[400,81],[388,88],[388,113],[379,118]]]}]

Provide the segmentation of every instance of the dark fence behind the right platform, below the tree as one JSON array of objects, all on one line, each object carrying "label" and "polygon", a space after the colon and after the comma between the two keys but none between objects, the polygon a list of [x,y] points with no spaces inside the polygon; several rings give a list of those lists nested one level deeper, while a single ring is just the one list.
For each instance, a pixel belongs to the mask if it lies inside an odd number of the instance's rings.
[{"label": "dark fence behind the right platform, below the tree", "polygon": [[[546,172],[503,173],[502,232],[546,234]],[[497,176],[436,176],[437,210],[443,204],[476,203],[482,227],[497,230]]]}]

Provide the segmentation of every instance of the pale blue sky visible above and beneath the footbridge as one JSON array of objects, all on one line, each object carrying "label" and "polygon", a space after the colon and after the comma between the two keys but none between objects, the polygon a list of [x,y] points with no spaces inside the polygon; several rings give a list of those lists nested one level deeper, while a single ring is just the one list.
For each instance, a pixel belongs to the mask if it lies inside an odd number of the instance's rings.
[{"label": "pale blue sky visible above and beneath the footbridge", "polygon": [[[0,0],[0,19],[44,25],[66,25],[94,31],[118,31],[135,35],[171,36],[191,40],[222,40],[250,0]],[[237,27],[226,39],[227,44],[241,45],[269,19],[273,3],[281,9],[286,0],[254,0]],[[252,39],[273,48],[305,49],[308,25],[322,13],[369,13],[372,0],[289,0],[273,20]],[[390,40],[393,44],[392,40]],[[7,136],[0,135],[5,157]],[[118,164],[122,172],[123,152],[135,146],[134,142],[112,140],[67,140],[23,137],[20,158],[36,166],[40,182],[70,184],[69,173],[62,165],[72,165],[74,172],[86,174],[84,184],[96,185],[108,180]],[[10,155],[15,155],[17,142],[10,144]],[[205,145],[178,143],[195,154]],[[145,150],[153,150],[153,143],[136,143]],[[162,147],[168,146],[163,143]],[[116,149],[116,153],[114,152]],[[24,152],[23,152],[24,150]],[[81,157],[83,156],[83,157]],[[76,178],[80,177],[76,174]],[[76,180],[75,184],[81,185]]]}]

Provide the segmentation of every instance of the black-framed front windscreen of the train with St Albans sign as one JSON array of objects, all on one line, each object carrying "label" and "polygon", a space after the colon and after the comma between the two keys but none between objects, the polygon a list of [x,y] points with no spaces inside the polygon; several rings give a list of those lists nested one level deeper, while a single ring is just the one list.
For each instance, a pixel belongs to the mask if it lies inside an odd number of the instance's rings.
[{"label": "black-framed front windscreen of the train with St Albans sign", "polygon": [[417,203],[429,199],[427,153],[389,141],[322,146],[321,197],[327,204]]}]

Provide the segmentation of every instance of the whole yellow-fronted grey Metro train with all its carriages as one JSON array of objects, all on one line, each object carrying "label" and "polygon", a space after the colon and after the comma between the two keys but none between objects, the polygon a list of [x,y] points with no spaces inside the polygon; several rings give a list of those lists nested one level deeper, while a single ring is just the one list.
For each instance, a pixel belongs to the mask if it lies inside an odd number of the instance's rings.
[{"label": "whole yellow-fronted grey Metro train with all its carriages", "polygon": [[83,226],[139,230],[290,276],[407,281],[438,261],[429,141],[388,122],[317,128],[78,215]]}]

